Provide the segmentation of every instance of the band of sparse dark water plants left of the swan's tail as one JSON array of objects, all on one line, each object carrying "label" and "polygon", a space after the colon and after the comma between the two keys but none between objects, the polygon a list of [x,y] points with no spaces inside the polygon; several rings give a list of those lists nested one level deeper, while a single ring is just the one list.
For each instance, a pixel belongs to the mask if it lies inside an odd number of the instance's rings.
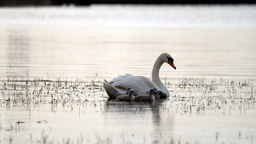
[{"label": "band of sparse dark water plants left of the swan's tail", "polygon": [[[94,96],[104,100],[100,82],[52,80],[2,80],[0,81],[1,106],[36,106],[38,104],[83,104],[94,101]],[[97,92],[97,94],[96,94]],[[98,93],[101,92],[101,96]],[[90,99],[91,98],[91,99]],[[98,100],[99,101],[99,100]]]}]

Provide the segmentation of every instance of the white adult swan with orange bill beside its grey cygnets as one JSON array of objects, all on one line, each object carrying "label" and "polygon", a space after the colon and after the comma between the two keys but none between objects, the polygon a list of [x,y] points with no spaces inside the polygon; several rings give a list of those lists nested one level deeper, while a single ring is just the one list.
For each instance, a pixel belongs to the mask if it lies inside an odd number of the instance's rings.
[{"label": "white adult swan with orange bill beside its grey cygnets", "polygon": [[168,89],[164,86],[159,78],[159,70],[164,62],[170,64],[174,69],[176,67],[173,64],[173,58],[170,54],[162,53],[156,59],[156,62],[152,69],[152,80],[145,76],[133,76],[132,74],[125,74],[118,76],[117,78],[107,82],[104,80],[104,88],[109,97],[117,97],[122,94],[126,94],[126,88],[131,87],[135,92],[139,94],[146,94],[146,91],[152,87],[157,90],[162,90],[169,96]]}]

